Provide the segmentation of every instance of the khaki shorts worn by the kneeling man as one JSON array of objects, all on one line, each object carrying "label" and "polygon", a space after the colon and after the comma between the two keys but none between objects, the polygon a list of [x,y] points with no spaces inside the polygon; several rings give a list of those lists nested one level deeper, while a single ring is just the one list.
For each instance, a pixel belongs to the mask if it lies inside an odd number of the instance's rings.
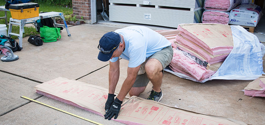
[{"label": "khaki shorts worn by the kneeling man", "polygon": [[154,53],[152,56],[146,59],[144,63],[141,64],[141,67],[139,69],[138,75],[136,77],[135,83],[133,84],[133,87],[144,87],[147,86],[149,83],[149,79],[147,77],[147,74],[145,73],[145,64],[150,58],[157,59],[163,67],[163,75],[164,75],[164,68],[167,67],[167,65],[171,62],[173,58],[173,49],[172,46],[168,46],[163,48],[162,50]]}]

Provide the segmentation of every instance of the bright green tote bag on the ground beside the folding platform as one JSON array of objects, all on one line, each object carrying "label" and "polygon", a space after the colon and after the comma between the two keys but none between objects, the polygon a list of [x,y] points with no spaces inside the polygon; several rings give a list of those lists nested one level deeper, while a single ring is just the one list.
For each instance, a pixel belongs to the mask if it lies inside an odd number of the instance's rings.
[{"label": "bright green tote bag on the ground beside the folding platform", "polygon": [[40,36],[44,37],[43,42],[56,42],[57,38],[61,39],[60,28],[40,27]]}]

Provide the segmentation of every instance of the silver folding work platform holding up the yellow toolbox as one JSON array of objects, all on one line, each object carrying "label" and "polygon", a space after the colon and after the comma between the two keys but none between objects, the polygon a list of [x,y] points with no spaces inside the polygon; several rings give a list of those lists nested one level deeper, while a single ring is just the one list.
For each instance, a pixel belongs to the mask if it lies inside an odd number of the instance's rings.
[{"label": "silver folding work platform holding up the yellow toolbox", "polygon": [[[22,38],[23,38],[25,24],[34,23],[35,28],[37,28],[36,27],[36,23],[35,23],[36,20],[45,19],[45,18],[49,18],[49,17],[52,17],[55,27],[57,27],[57,26],[64,27],[66,29],[68,37],[71,36],[62,12],[45,12],[45,13],[40,13],[39,17],[32,17],[32,18],[20,19],[20,20],[10,18],[9,27],[8,27],[8,37],[10,37],[11,35],[18,36],[19,37],[19,46],[22,48]],[[55,17],[62,18],[63,22],[64,22],[64,25],[56,23]],[[16,33],[12,32],[12,25],[13,24],[14,25],[19,25],[19,34],[16,34]]]}]

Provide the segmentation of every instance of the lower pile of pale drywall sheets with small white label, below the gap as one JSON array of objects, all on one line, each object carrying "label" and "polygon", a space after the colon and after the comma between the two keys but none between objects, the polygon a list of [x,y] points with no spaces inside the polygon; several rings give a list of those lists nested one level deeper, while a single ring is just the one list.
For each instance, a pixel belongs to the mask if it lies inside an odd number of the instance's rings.
[{"label": "lower pile of pale drywall sheets with small white label, below the gap", "polygon": [[[150,14],[148,18],[145,15]],[[187,10],[109,5],[109,20],[165,27],[178,27],[181,23],[193,23],[194,12]]]}]

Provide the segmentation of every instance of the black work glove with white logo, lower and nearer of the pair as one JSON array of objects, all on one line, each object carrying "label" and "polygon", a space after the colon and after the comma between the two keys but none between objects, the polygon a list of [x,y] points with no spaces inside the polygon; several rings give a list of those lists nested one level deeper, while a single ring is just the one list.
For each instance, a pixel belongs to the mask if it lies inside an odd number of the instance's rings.
[{"label": "black work glove with white logo, lower and nearer of the pair", "polygon": [[111,107],[109,108],[109,111],[104,115],[105,119],[108,118],[110,120],[114,115],[114,119],[118,117],[119,110],[121,107],[122,101],[120,101],[117,97],[115,98],[114,102],[111,104]]}]

